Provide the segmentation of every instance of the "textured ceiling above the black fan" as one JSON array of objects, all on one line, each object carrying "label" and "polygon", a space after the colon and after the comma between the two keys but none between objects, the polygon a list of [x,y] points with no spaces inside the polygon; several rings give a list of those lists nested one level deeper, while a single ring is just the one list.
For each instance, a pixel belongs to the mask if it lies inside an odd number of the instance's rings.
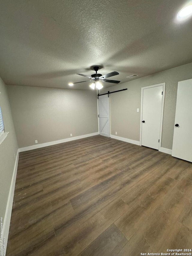
[{"label": "textured ceiling above the black fan", "polygon": [[[0,76],[8,85],[89,89],[93,65],[143,77],[192,62],[183,0],[1,0]],[[110,79],[110,78],[109,78]],[[103,83],[106,87],[111,83]],[[114,84],[115,85],[115,84]]]}]

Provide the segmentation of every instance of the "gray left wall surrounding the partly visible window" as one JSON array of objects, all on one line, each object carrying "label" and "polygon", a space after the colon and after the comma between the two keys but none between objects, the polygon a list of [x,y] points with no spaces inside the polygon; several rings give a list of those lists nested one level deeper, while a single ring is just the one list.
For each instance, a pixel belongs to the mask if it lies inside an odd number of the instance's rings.
[{"label": "gray left wall surrounding the partly visible window", "polygon": [[17,154],[17,141],[6,86],[0,78],[0,106],[7,137],[0,145],[0,217],[4,219]]}]

